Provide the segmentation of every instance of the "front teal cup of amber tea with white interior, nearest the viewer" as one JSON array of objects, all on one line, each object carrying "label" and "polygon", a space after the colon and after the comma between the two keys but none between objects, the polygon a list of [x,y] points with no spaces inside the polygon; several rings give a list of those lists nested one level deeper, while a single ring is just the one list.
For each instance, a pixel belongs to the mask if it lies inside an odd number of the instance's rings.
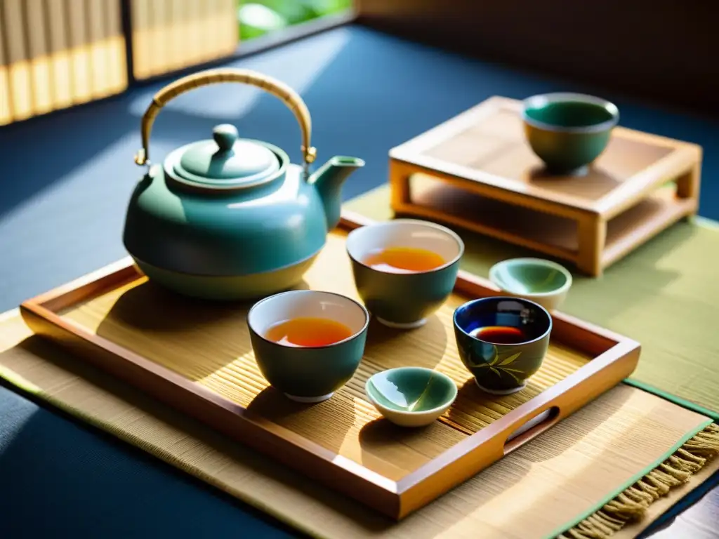
[{"label": "front teal cup of amber tea with white interior, nearest the viewer", "polygon": [[331,292],[291,290],[255,303],[247,314],[257,367],[298,402],[329,399],[357,371],[370,314]]}]

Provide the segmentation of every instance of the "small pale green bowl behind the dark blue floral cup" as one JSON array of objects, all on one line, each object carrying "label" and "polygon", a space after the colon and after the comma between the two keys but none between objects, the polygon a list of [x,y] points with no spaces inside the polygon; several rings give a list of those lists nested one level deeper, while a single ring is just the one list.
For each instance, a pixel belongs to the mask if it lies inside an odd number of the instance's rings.
[{"label": "small pale green bowl behind the dark blue floral cup", "polygon": [[541,258],[513,258],[490,268],[490,281],[507,295],[557,310],[572,287],[572,274],[556,262]]}]

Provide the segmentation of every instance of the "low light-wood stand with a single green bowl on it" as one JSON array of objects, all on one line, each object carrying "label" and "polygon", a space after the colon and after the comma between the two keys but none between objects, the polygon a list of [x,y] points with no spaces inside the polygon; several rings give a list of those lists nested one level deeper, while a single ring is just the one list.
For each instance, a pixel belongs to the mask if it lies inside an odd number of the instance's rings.
[{"label": "low light-wood stand with a single green bowl on it", "polygon": [[520,101],[493,97],[391,149],[393,210],[528,247],[592,276],[696,213],[696,144],[617,127],[585,174],[551,176],[524,139],[520,111]]}]

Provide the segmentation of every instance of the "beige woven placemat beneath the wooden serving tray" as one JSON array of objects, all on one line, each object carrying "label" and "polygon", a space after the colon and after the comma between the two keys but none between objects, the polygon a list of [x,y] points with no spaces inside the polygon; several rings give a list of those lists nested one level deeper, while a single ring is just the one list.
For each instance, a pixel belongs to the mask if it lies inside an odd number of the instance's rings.
[{"label": "beige woven placemat beneath the wooden serving tray", "polygon": [[[620,385],[536,441],[395,523],[227,441],[32,336],[17,313],[0,323],[0,376],[322,538],[551,537],[595,513],[679,446],[696,440],[696,433],[704,436],[702,430],[711,423],[699,413]],[[716,446],[719,448],[719,442]],[[700,471],[701,458],[692,458]],[[686,458],[681,462],[686,463]],[[659,476],[659,484],[667,492],[672,482],[674,487],[686,484],[685,480],[691,484],[692,472],[682,469],[684,464],[669,464],[668,473],[662,472],[665,478]],[[649,506],[646,499],[619,501],[619,510],[627,515],[641,515]]]}]

